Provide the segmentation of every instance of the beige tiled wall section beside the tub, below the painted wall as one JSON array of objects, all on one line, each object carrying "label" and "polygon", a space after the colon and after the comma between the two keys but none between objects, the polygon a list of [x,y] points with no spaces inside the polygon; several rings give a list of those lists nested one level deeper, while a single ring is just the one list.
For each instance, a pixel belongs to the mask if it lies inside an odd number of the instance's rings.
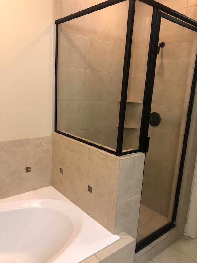
[{"label": "beige tiled wall section beside the tub, below the painted wall", "polygon": [[51,185],[51,156],[51,135],[1,141],[0,199]]}]

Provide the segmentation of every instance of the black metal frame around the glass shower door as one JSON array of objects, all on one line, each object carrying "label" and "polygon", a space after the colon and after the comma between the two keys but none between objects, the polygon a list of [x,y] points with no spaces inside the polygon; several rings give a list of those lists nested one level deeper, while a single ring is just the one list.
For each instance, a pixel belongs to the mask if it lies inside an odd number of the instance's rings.
[{"label": "black metal frame around the glass shower door", "polygon": [[[149,5],[150,3],[154,4],[152,24],[151,24],[151,36],[150,36],[150,44],[149,44],[149,54],[148,54],[148,62],[147,62],[145,93],[144,93],[144,101],[143,101],[142,122],[141,122],[140,139],[139,139],[139,149],[146,153],[148,152],[148,146],[149,146],[148,145],[149,144],[149,138],[148,138],[149,117],[151,113],[151,101],[152,101],[154,78],[155,78],[155,67],[156,67],[157,47],[159,41],[161,18],[165,18],[173,23],[179,24],[195,32],[197,32],[197,22],[153,0],[139,0],[139,1]],[[160,9],[162,9],[162,11],[168,14],[161,12]],[[191,23],[188,24],[189,22]],[[191,114],[192,114],[192,108],[194,102],[196,83],[197,83],[197,56],[196,56],[193,80],[191,85],[190,101],[189,101],[189,107],[187,112],[187,121],[186,121],[182,154],[181,154],[181,160],[179,166],[179,176],[177,181],[172,221],[164,225],[162,228],[159,228],[155,232],[151,233],[143,240],[140,240],[136,244],[136,252],[143,249],[145,246],[156,240],[158,237],[162,236],[164,233],[166,233],[176,225],[176,215],[177,215],[177,209],[179,203],[179,195],[180,195],[181,181],[183,176],[183,167],[184,167],[184,160],[185,160],[186,149],[187,149],[187,141],[189,136],[189,128],[191,122]]]}]

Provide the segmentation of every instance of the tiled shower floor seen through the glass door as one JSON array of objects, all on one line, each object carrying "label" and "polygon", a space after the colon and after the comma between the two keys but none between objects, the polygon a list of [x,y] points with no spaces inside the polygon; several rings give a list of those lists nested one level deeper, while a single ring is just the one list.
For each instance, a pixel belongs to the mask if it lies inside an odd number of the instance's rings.
[{"label": "tiled shower floor seen through the glass door", "polygon": [[168,223],[165,216],[140,204],[137,242]]}]

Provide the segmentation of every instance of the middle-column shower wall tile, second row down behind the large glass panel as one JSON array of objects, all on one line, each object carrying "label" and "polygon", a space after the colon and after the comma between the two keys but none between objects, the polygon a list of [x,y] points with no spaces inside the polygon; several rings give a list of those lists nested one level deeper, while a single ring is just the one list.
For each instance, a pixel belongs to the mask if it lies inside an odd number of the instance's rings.
[{"label": "middle-column shower wall tile, second row down behind the large glass panel", "polygon": [[109,72],[111,43],[89,39],[87,69],[92,71]]}]

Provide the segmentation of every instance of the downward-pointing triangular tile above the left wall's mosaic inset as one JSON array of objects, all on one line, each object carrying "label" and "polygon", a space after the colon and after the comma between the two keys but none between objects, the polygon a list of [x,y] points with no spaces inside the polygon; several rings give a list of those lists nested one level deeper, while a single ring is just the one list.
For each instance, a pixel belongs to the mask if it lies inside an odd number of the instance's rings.
[{"label": "downward-pointing triangular tile above the left wall's mosaic inset", "polygon": [[31,166],[47,147],[48,144],[40,144],[5,150],[5,152],[24,167],[27,167]]}]

